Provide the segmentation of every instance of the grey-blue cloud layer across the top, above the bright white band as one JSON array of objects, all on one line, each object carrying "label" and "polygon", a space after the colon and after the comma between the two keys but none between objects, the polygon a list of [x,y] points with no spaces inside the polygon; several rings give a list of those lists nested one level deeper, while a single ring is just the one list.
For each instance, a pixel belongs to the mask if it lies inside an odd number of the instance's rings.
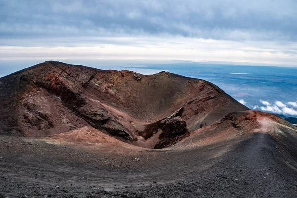
[{"label": "grey-blue cloud layer across the top, above the bright white band", "polygon": [[1,0],[0,5],[0,34],[5,38],[111,33],[297,40],[297,2],[292,0]]}]

